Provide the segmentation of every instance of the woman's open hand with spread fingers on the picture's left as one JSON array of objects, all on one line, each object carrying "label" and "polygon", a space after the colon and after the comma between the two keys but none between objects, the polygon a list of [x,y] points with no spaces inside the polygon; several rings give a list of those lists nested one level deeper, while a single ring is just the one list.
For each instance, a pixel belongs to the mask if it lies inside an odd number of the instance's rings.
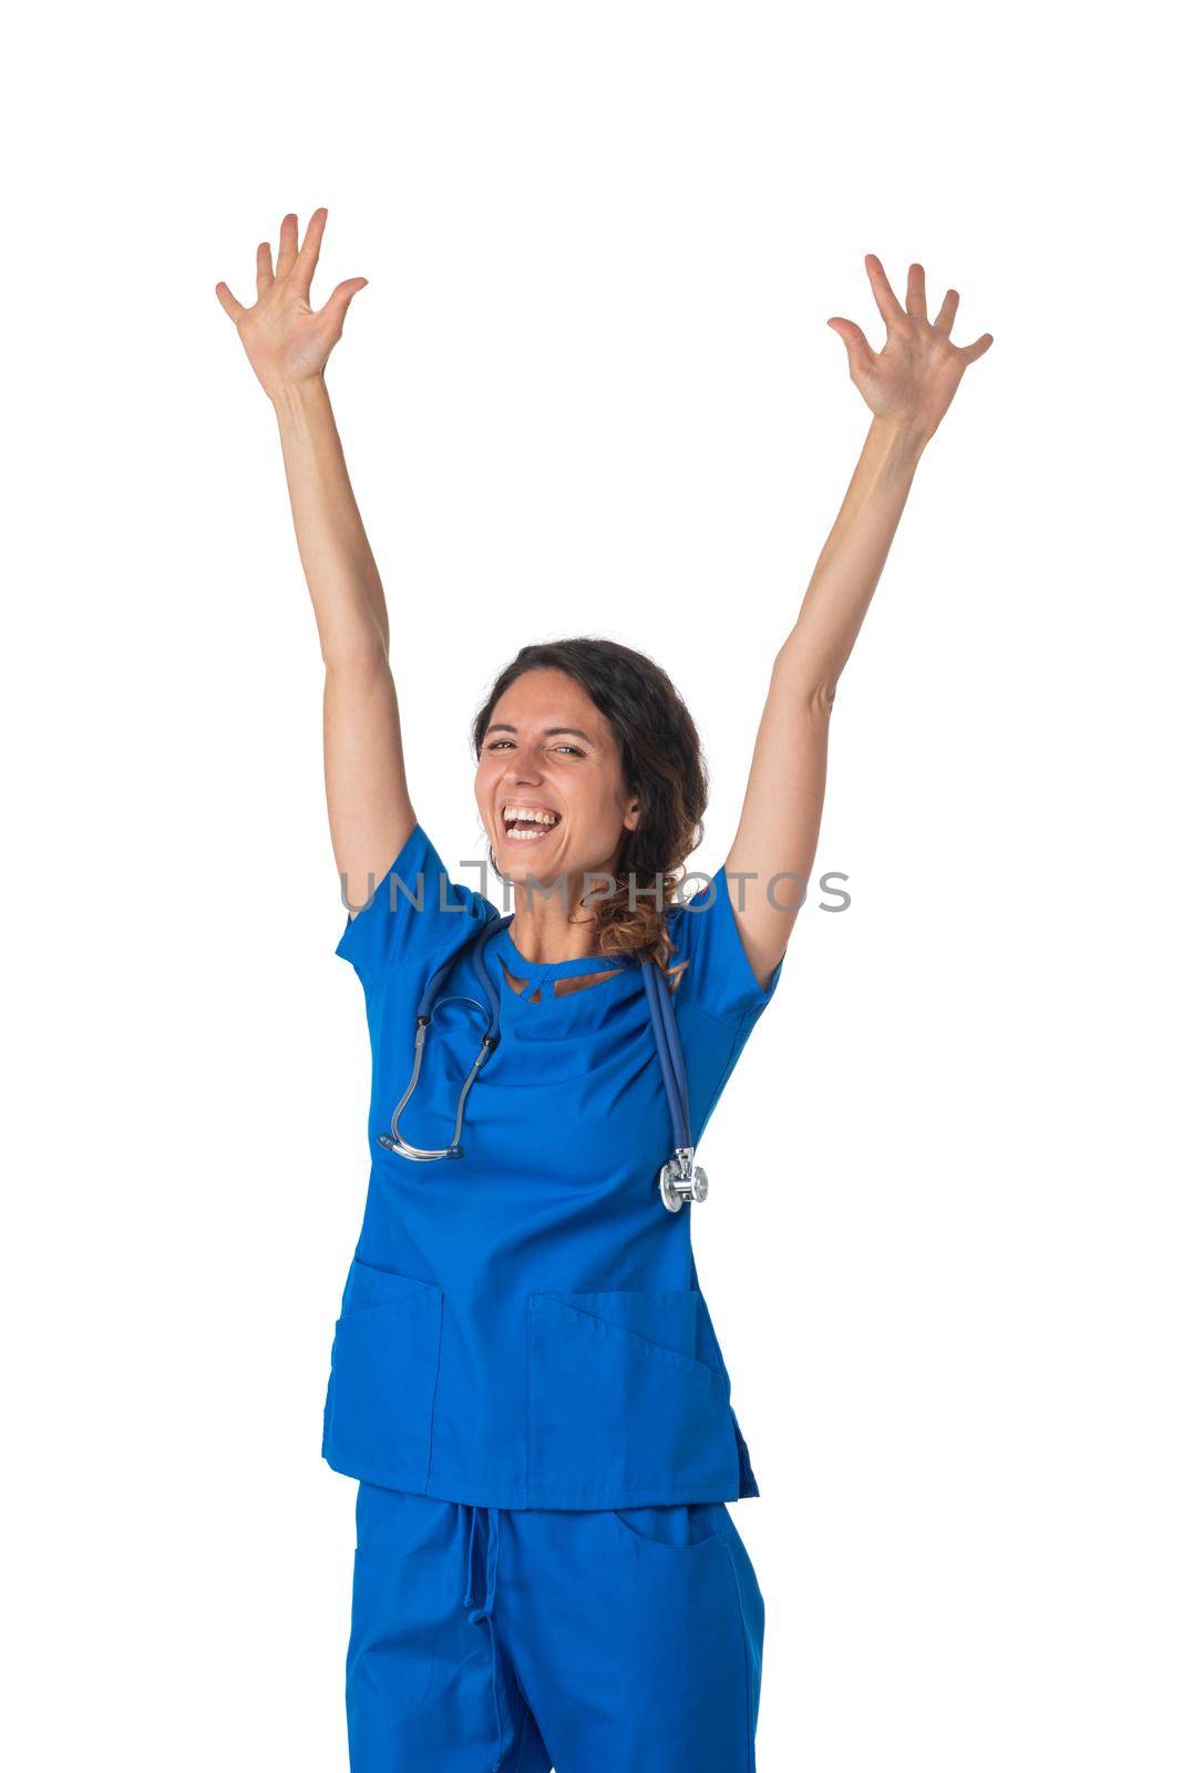
[{"label": "woman's open hand with spread fingers on the picture's left", "polygon": [[280,223],[278,264],[271,269],[271,241],[264,239],[255,255],[259,300],[246,309],[227,284],[214,294],[237,326],[250,367],[275,402],[292,383],[324,374],[328,356],[344,330],[349,303],[369,278],[349,277],[337,284],[323,309],[310,301],[312,273],[321,255],[328,209],[317,209],[299,241],[294,215]]}]

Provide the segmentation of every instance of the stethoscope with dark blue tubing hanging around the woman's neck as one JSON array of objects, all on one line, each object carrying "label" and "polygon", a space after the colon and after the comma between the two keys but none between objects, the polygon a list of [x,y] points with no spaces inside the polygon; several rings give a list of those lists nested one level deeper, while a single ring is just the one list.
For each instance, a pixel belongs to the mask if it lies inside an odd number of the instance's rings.
[{"label": "stethoscope with dark blue tubing hanging around the woman's neck", "polygon": [[[500,1046],[502,1037],[502,1000],[500,993],[493,986],[489,970],[484,965],[484,950],[496,931],[503,929],[509,922],[512,922],[510,913],[489,918],[475,938],[471,965],[477,979],[480,980],[480,988],[486,993],[484,1004],[480,1004],[478,998],[466,996],[464,993],[452,993],[450,996],[439,995],[448,972],[459,957],[459,950],[436,966],[427,980],[424,995],[418,1000],[418,1009],[415,1011],[415,1064],[411,1067],[411,1080],[393,1110],[390,1131],[377,1135],[377,1144],[383,1145],[385,1151],[393,1151],[400,1158],[409,1158],[413,1163],[432,1163],[436,1158],[463,1158],[459,1135],[464,1126],[464,1105],[468,1101],[468,1092],[477,1082],[480,1067],[487,1060],[489,1053],[494,1053]],[[680,1046],[680,1035],[677,1034],[673,1005],[670,1004],[668,991],[657,979],[657,970],[652,961],[642,961],[640,970],[643,973],[645,996],[649,1000],[652,1037],[661,1062],[661,1080],[665,1083],[665,1094],[668,1096],[670,1115],[673,1117],[673,1156],[661,1167],[661,1200],[670,1213],[680,1213],[688,1200],[705,1200],[709,1181],[705,1170],[693,1161],[693,1138],[689,1133],[689,1085],[686,1082],[686,1058]],[[484,1034],[480,1035],[480,1050],[471,1062],[471,1069],[468,1071],[464,1085],[459,1092],[459,1101],[455,1103],[455,1126],[452,1128],[450,1144],[441,1151],[424,1151],[420,1145],[411,1145],[411,1142],[399,1133],[399,1117],[418,1087],[424,1048],[427,1044],[427,1028],[431,1027],[431,1018],[439,1004],[471,1004],[471,1007],[484,1016]]]}]

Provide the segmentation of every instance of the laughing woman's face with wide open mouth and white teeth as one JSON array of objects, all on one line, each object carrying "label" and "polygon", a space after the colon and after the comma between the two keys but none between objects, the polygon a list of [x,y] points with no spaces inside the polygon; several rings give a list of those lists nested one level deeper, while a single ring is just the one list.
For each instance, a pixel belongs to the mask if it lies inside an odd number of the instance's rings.
[{"label": "laughing woman's face with wide open mouth and white teeth", "polygon": [[640,819],[610,723],[553,668],[523,672],[493,707],[475,789],[498,872],[542,886],[567,876],[567,910],[585,885],[603,890],[583,878],[613,872],[624,832]]}]

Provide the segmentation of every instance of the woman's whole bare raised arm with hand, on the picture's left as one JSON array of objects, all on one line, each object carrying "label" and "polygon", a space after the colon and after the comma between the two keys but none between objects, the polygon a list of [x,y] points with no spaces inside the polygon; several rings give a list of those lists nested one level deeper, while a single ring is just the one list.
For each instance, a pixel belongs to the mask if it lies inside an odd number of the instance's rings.
[{"label": "woman's whole bare raised arm with hand, on the picture's left", "polygon": [[275,408],[287,489],[324,658],[324,785],[342,888],[353,910],[369,897],[415,828],[406,787],[399,700],[390,674],[390,622],[377,566],[353,496],[324,365],[363,277],[310,305],[326,209],[298,245],[294,215],[280,250],[257,252],[259,300],[246,309],[225,284],[216,296]]}]

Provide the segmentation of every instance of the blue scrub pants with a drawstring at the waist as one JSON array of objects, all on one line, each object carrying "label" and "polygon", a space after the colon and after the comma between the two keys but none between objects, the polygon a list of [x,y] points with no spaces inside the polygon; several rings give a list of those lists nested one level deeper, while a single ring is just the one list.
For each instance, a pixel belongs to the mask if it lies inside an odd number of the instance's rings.
[{"label": "blue scrub pants with a drawstring at the waist", "polygon": [[725,1502],[362,1484],[356,1518],[353,1773],[755,1773],[764,1597]]}]

